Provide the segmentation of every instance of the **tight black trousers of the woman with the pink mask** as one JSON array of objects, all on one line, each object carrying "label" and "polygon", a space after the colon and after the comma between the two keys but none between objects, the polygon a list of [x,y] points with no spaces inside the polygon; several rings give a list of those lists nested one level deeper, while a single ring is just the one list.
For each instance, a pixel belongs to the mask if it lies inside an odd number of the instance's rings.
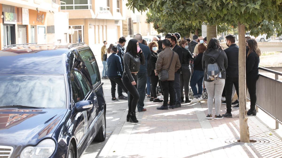
[{"label": "tight black trousers of the woman with the pink mask", "polygon": [[135,112],[138,100],[140,98],[139,92],[137,91],[138,88],[138,76],[132,74],[136,85],[132,85],[131,81],[124,73],[122,75],[122,82],[124,83],[125,88],[127,89],[127,100],[128,100],[128,111]]}]

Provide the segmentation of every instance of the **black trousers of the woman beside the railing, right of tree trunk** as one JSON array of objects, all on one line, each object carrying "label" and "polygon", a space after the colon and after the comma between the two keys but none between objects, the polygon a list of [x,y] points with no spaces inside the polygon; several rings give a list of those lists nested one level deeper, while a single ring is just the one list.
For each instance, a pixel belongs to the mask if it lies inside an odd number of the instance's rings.
[{"label": "black trousers of the woman beside the railing, right of tree trunk", "polygon": [[246,76],[246,83],[251,100],[251,107],[250,107],[251,110],[255,109],[255,103],[257,102],[257,94],[255,91],[256,91],[256,84],[258,79],[259,79],[258,74],[251,74]]}]

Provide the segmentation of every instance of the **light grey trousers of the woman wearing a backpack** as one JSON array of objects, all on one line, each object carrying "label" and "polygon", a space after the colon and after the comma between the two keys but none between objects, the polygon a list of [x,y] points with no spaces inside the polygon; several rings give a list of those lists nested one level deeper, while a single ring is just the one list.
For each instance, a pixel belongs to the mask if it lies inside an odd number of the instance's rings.
[{"label": "light grey trousers of the woman wearing a backpack", "polygon": [[225,79],[218,79],[212,82],[206,82],[205,86],[208,92],[208,114],[212,114],[213,99],[215,105],[215,114],[218,116],[221,107],[221,95],[224,89]]}]

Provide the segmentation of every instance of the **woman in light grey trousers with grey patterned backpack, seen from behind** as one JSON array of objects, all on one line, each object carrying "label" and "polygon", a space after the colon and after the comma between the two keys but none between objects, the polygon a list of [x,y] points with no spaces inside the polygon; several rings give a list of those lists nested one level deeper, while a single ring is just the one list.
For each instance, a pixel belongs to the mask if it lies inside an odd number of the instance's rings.
[{"label": "woman in light grey trousers with grey patterned backpack, seen from behind", "polygon": [[221,94],[226,79],[227,56],[218,39],[212,38],[208,43],[207,50],[203,53],[202,68],[204,70],[205,87],[208,92],[208,115],[206,119],[212,119],[213,99],[215,104],[214,119],[222,119],[219,111]]}]

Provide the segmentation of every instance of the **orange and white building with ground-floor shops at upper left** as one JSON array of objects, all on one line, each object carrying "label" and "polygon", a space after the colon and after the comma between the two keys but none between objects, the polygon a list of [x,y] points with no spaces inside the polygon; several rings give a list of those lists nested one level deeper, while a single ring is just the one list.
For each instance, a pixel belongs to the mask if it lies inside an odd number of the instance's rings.
[{"label": "orange and white building with ground-floor shops at upper left", "polygon": [[68,13],[59,0],[1,0],[0,46],[69,42]]}]

